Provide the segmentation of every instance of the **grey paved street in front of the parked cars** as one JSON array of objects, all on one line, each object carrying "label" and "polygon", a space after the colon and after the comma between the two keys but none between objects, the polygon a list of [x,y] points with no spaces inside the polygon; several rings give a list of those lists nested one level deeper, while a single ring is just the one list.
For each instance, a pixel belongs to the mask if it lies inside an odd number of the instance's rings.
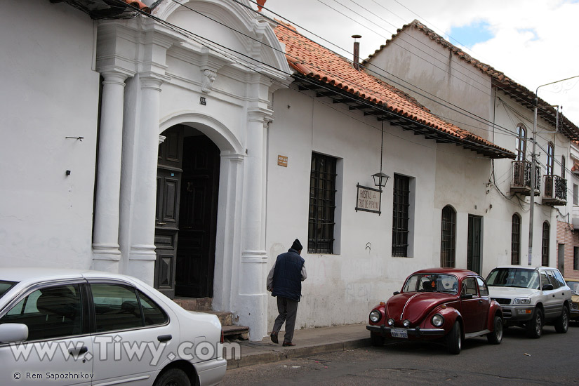
[{"label": "grey paved street in front of the parked cars", "polygon": [[545,326],[538,340],[508,328],[500,345],[465,341],[460,355],[425,343],[390,343],[227,370],[222,385],[577,385],[579,324]]}]

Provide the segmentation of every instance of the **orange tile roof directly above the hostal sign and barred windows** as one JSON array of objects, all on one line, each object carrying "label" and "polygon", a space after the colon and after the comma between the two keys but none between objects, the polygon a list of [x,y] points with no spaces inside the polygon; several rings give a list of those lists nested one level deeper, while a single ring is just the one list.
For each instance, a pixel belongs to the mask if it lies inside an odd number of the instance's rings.
[{"label": "orange tile roof directly above the hostal sign and barred windows", "polygon": [[477,147],[492,149],[494,157],[514,158],[514,154],[509,150],[440,119],[410,95],[368,74],[364,69],[354,69],[351,60],[300,35],[295,27],[279,22],[275,33],[279,41],[286,45],[289,65],[305,79],[326,84],[330,88],[364,100],[382,111],[386,110],[420,126],[427,126],[432,132],[445,135],[451,142],[468,145],[474,149]]}]

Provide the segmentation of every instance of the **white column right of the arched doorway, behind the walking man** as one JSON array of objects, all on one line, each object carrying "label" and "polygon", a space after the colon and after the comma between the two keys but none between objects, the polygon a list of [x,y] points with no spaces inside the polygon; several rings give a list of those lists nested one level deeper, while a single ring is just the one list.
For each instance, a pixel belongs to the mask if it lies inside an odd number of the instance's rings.
[{"label": "white column right of the arched doorway, behind the walking man", "polygon": [[267,293],[265,251],[265,124],[266,111],[248,112],[246,174],[244,176],[244,218],[241,227],[241,272],[239,321],[250,326],[250,339],[267,335]]}]

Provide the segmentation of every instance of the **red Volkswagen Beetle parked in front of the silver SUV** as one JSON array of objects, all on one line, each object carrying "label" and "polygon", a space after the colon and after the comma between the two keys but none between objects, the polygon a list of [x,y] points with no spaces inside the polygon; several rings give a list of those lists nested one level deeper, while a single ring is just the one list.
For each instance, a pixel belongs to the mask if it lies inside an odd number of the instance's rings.
[{"label": "red Volkswagen Beetle parked in front of the silver SUV", "polygon": [[372,345],[385,338],[446,338],[448,351],[459,354],[462,340],[486,335],[495,345],[503,340],[503,310],[488,297],[482,277],[467,269],[433,268],[411,274],[401,292],[370,312],[366,328]]}]

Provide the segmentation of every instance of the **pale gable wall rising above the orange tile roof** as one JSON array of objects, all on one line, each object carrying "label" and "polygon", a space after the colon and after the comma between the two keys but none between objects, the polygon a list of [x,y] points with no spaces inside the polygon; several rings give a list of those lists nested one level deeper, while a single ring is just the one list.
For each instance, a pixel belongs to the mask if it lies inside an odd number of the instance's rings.
[{"label": "pale gable wall rising above the orange tile roof", "polygon": [[439,117],[489,139],[481,119],[492,119],[491,79],[423,32],[399,32],[367,67]]}]

